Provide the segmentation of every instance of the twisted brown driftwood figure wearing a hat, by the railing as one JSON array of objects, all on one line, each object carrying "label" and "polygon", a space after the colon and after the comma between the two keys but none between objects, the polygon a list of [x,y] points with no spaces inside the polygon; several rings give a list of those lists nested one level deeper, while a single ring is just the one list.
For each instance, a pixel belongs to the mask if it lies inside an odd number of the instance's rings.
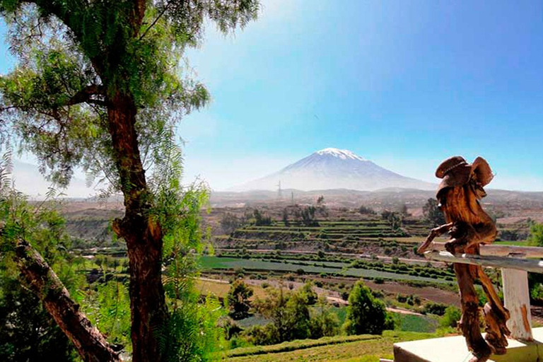
[{"label": "twisted brown driftwood figure wearing a hat, by the railing", "polygon": [[[481,157],[468,164],[464,158],[455,156],[439,165],[436,176],[443,179],[436,197],[447,223],[431,230],[426,241],[419,247],[419,252],[424,252],[433,238],[448,232],[450,240],[445,244],[448,252],[453,255],[478,255],[479,245],[492,243],[496,238],[496,225],[479,204],[479,199],[486,196],[483,187],[494,177],[489,164]],[[476,265],[455,263],[454,269],[462,303],[460,329],[468,349],[474,355],[470,362],[484,362],[492,353],[505,354],[506,336],[510,334],[506,327],[509,312],[503,307],[491,280]],[[479,300],[475,293],[474,279],[481,281],[489,300],[483,308],[486,322],[484,339],[479,328]]]}]

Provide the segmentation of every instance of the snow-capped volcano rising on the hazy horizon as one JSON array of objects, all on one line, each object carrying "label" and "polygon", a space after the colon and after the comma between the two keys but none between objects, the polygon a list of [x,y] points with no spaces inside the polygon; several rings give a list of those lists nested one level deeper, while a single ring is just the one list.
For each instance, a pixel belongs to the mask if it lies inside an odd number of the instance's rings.
[{"label": "snow-capped volcano rising on the hazy horizon", "polygon": [[245,185],[235,191],[252,189],[356,189],[373,191],[387,187],[436,189],[430,182],[404,177],[366,160],[356,153],[339,148],[324,148],[286,168]]}]

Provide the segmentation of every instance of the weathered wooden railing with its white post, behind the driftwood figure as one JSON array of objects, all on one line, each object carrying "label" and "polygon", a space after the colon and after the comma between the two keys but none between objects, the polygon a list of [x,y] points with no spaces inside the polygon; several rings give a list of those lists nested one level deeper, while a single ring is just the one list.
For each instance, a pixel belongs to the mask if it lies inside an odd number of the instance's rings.
[{"label": "weathered wooden railing with its white post, behind the driftwood figure", "polygon": [[433,243],[432,250],[424,253],[427,259],[440,262],[463,263],[501,269],[503,302],[510,312],[507,327],[514,339],[533,341],[530,315],[528,271],[543,273],[543,247],[481,245],[480,255],[452,255],[445,243]]}]

